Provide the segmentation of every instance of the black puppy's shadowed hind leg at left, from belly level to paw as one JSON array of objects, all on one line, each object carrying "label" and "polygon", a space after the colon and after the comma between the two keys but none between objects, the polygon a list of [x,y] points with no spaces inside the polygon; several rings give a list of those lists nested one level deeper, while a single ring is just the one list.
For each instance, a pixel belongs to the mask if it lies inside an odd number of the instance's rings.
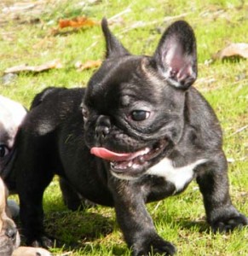
[{"label": "black puppy's shadowed hind leg at left, from belly level to paw", "polygon": [[52,247],[53,242],[43,229],[43,192],[53,175],[40,172],[38,166],[22,165],[16,175],[20,198],[20,221],[26,245]]}]

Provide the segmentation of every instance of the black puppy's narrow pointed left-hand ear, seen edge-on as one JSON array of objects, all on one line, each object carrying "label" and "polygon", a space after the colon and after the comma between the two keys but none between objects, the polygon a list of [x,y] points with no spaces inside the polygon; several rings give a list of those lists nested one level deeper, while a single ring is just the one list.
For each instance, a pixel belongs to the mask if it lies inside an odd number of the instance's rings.
[{"label": "black puppy's narrow pointed left-hand ear, seen edge-on", "polygon": [[118,41],[107,26],[107,19],[101,20],[101,29],[106,40],[107,53],[106,57],[130,55],[130,52]]}]

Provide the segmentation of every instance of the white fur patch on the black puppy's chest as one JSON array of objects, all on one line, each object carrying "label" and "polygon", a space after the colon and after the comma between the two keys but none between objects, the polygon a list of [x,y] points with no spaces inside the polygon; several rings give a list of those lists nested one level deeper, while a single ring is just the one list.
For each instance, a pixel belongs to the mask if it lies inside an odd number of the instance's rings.
[{"label": "white fur patch on the black puppy's chest", "polygon": [[164,158],[157,165],[151,167],[147,174],[164,177],[176,187],[176,191],[183,189],[184,185],[193,179],[193,169],[200,164],[205,163],[207,160],[201,159],[182,167],[174,167],[172,161]]}]

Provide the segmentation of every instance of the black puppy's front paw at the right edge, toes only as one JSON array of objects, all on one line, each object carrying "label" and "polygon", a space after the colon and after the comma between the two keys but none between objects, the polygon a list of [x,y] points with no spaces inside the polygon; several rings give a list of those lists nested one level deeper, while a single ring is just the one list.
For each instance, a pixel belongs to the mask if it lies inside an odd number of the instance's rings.
[{"label": "black puppy's front paw at the right edge, toes only", "polygon": [[242,228],[248,224],[248,219],[240,214],[231,218],[219,218],[211,224],[211,229],[214,233],[216,232],[230,232],[236,228]]}]

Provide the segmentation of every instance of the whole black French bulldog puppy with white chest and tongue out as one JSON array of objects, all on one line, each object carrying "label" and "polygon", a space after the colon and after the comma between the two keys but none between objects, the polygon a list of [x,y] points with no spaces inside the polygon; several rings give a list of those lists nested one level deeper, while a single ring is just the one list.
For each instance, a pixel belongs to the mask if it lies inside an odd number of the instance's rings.
[{"label": "whole black French bulldog puppy with white chest and tongue out", "polygon": [[42,200],[55,174],[73,207],[84,196],[115,208],[133,255],[176,253],[145,204],[182,192],[193,178],[214,231],[246,225],[230,200],[216,114],[191,86],[197,77],[191,26],[173,23],[153,56],[131,55],[105,19],[102,30],[106,60],[87,89],[44,90],[17,136],[9,184],[20,195],[27,243],[49,246]]}]

